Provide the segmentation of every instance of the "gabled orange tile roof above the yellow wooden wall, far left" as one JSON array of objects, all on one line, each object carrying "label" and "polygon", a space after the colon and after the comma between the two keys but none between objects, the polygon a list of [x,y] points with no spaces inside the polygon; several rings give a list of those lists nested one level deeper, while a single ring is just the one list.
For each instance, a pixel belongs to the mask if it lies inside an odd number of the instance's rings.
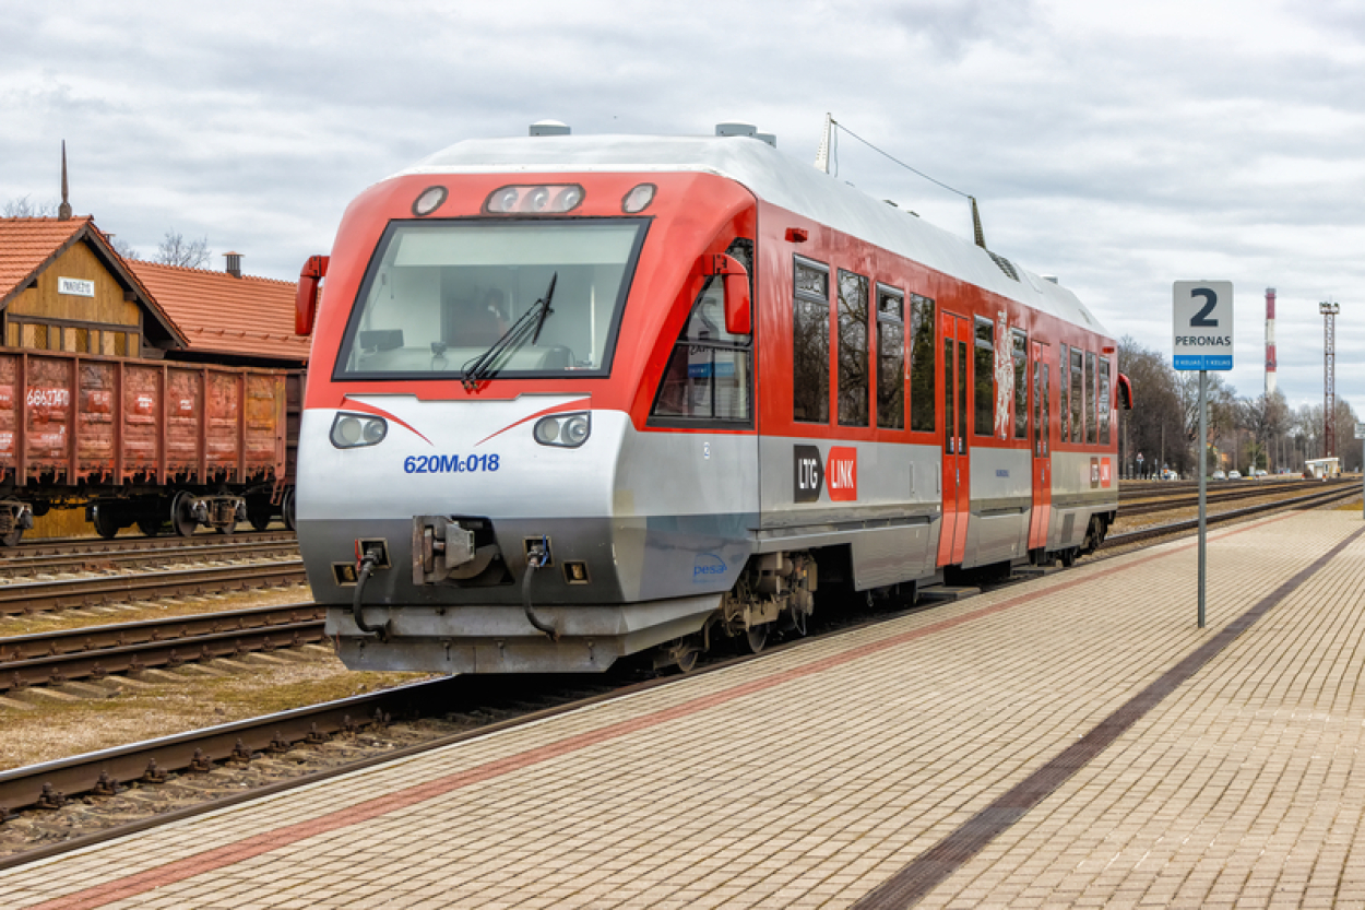
[{"label": "gabled orange tile roof above the yellow wooden wall, far left", "polygon": [[[183,347],[184,333],[119,256],[89,215],[76,219],[0,219],[0,307],[76,242],[85,240],[126,290],[132,291],[171,344]],[[150,328],[150,327],[147,327]]]}]

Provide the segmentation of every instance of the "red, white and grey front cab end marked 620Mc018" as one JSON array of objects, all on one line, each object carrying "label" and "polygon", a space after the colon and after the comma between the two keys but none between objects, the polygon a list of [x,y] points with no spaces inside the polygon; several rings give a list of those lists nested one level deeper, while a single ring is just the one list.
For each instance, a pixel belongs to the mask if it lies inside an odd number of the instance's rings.
[{"label": "red, white and grey front cab end marked 620Mc018", "polygon": [[632,413],[752,206],[714,175],[491,165],[351,205],[313,262],[296,503],[348,667],[594,672],[702,629],[749,555],[752,437],[698,496],[698,454]]}]

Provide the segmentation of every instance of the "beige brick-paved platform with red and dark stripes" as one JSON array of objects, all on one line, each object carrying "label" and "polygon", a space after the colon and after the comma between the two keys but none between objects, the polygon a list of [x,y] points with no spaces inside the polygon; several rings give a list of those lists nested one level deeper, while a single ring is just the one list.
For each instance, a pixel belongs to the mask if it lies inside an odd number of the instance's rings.
[{"label": "beige brick-paved platform with red and dark stripes", "polygon": [[0,873],[4,907],[1365,907],[1358,511]]}]

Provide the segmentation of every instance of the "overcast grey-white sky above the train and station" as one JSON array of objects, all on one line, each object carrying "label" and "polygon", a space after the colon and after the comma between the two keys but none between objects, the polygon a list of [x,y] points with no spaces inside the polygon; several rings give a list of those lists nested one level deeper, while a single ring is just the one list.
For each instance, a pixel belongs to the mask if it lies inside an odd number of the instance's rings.
[{"label": "overcast grey-white sky above the train and station", "polygon": [[[1171,283],[1227,279],[1244,396],[1365,403],[1365,4],[1355,0],[0,0],[0,204],[71,202],[295,279],[347,202],[465,138],[710,134],[814,161],[826,112],[972,193],[987,242],[1170,353]],[[971,236],[965,202],[844,137],[839,178]],[[1340,432],[1340,430],[1339,430]]]}]

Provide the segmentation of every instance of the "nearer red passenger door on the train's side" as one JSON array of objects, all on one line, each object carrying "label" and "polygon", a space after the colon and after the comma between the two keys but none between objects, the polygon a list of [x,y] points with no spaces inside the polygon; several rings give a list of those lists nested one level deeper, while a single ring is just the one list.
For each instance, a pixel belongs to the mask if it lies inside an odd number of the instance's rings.
[{"label": "nearer red passenger door on the train's side", "polygon": [[971,470],[966,455],[968,348],[972,324],[962,316],[939,317],[939,357],[943,377],[943,532],[938,564],[961,563],[966,555],[971,511]]}]

